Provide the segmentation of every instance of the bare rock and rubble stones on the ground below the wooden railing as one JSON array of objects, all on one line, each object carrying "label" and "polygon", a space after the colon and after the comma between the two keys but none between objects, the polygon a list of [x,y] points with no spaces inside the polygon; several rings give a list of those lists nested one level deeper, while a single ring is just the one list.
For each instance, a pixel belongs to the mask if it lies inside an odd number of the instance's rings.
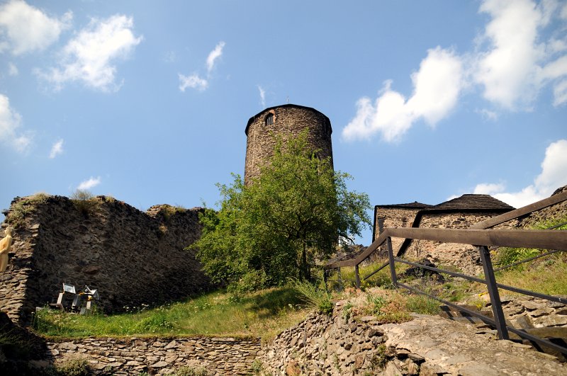
[{"label": "bare rock and rubble stones on the ground below the wooden railing", "polygon": [[[380,324],[372,316],[348,317],[345,304],[338,302],[331,317],[312,314],[264,348],[266,375],[567,375],[554,355],[500,341],[475,319],[412,314],[402,324]],[[564,309],[539,300],[505,306],[517,312],[516,322],[523,313],[535,325],[563,322]]]}]

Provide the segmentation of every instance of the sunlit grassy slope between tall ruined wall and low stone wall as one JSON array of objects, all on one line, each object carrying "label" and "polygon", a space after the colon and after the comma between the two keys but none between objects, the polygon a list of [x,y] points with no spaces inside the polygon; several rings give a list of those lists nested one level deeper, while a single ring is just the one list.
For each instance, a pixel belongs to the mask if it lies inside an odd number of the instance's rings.
[{"label": "sunlit grassy slope between tall ruined wall and low stone wall", "polygon": [[46,336],[275,336],[301,321],[307,310],[291,288],[274,288],[236,297],[211,292],[186,302],[106,316],[43,310],[34,328]]}]

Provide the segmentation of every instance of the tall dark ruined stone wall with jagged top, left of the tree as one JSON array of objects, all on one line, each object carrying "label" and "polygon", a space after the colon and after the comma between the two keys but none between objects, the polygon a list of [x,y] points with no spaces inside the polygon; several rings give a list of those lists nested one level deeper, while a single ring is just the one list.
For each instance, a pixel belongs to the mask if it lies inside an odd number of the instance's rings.
[{"label": "tall dark ruined stone wall with jagged top, left of the tree", "polygon": [[79,210],[62,196],[13,200],[6,221],[16,224],[14,242],[0,274],[0,309],[11,319],[28,322],[62,283],[98,289],[107,312],[210,288],[194,251],[184,251],[201,235],[199,208],[159,205],[148,214],[104,196],[82,203]]}]

